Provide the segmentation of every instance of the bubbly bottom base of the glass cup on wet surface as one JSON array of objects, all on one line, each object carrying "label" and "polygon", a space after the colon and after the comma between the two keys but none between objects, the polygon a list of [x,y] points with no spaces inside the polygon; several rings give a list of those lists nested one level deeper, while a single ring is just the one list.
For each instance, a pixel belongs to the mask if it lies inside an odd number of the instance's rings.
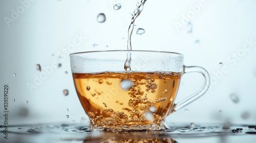
[{"label": "bubbly bottom base of the glass cup on wet surface", "polygon": [[91,126],[91,130],[107,131],[107,132],[123,132],[123,131],[163,131],[166,128],[160,124],[136,124],[136,125],[117,125],[117,126]]}]

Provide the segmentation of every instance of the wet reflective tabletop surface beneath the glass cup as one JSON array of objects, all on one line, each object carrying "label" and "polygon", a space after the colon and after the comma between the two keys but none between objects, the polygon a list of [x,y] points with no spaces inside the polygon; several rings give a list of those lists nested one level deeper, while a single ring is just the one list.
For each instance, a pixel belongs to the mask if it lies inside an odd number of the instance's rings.
[{"label": "wet reflective tabletop surface beneath the glass cup", "polygon": [[165,131],[101,132],[84,124],[0,127],[1,142],[255,142],[254,125],[172,125]]}]

